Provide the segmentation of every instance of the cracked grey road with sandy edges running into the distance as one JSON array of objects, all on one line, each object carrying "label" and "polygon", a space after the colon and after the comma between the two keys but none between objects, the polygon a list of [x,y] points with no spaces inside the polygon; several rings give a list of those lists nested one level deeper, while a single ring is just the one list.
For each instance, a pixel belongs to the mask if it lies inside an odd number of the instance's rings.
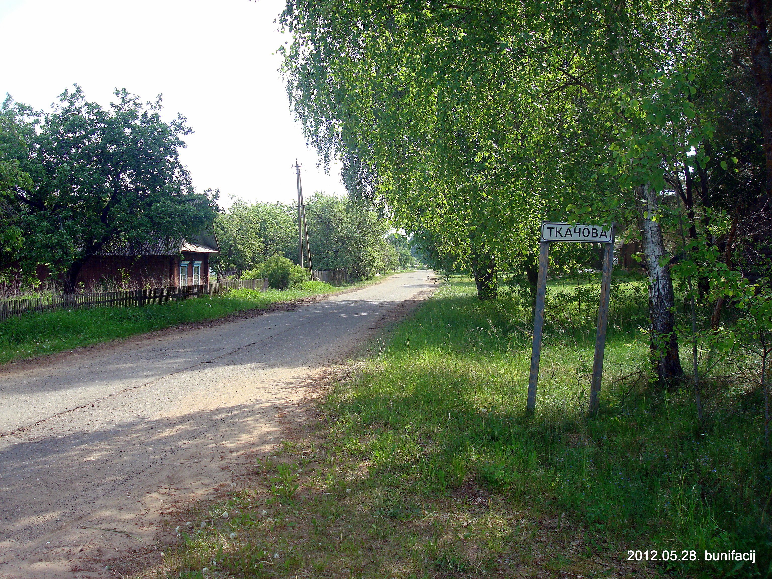
[{"label": "cracked grey road with sandy edges running into the distance", "polygon": [[[294,311],[0,371],[0,577],[103,577],[175,503],[278,440],[313,377],[435,286],[425,272]],[[13,434],[11,434],[13,433]]]}]

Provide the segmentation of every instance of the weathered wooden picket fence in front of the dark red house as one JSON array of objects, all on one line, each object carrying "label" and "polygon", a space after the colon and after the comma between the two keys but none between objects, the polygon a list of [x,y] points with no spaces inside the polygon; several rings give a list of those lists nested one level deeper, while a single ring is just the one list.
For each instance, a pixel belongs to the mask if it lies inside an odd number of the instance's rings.
[{"label": "weathered wooden picket fence in front of the dark red house", "polygon": [[228,289],[268,289],[267,279],[236,279],[232,282],[205,283],[200,286],[154,287],[118,292],[52,293],[36,297],[0,300],[0,320],[27,312],[42,312],[76,307],[144,306],[188,297],[219,296]]}]

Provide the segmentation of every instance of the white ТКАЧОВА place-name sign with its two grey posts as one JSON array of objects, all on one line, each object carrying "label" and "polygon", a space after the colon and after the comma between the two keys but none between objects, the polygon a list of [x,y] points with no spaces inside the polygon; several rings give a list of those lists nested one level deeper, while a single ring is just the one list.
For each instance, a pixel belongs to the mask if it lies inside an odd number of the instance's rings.
[{"label": "white \u0422\u041a\u0410\u0427\u041e\u0412\u0410 place-name sign with its two grey posts", "polygon": [[613,225],[571,225],[569,223],[543,223],[541,225],[539,277],[536,286],[536,308],[533,315],[533,347],[531,349],[526,411],[528,413],[533,413],[536,409],[539,360],[541,357],[541,335],[544,327],[544,300],[547,295],[547,256],[550,249],[550,243],[554,242],[604,244],[601,303],[598,306],[598,328],[595,333],[595,356],[592,364],[592,381],[590,386],[590,414],[594,415],[598,411],[598,396],[601,393],[601,378],[603,376],[603,354],[606,347],[608,300],[611,290],[611,267],[613,266],[614,259]]}]

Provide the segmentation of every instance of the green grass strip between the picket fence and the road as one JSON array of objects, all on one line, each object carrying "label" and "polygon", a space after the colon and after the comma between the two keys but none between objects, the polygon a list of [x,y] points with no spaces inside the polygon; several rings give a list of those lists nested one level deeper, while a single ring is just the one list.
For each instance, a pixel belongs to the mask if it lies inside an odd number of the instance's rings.
[{"label": "green grass strip between the picket fence and the road", "polygon": [[333,293],[322,282],[305,282],[285,291],[236,289],[222,296],[150,304],[29,313],[0,322],[0,364],[99,344],[181,323],[213,320],[229,313],[257,310],[272,303]]}]

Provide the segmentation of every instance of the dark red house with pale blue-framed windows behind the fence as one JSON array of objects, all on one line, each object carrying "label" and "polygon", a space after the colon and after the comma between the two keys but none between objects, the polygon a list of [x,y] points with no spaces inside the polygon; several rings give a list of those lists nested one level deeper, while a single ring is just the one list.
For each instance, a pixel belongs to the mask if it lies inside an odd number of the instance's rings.
[{"label": "dark red house with pale blue-framed windows behind the fence", "polygon": [[111,249],[88,259],[77,281],[94,289],[109,283],[198,286],[209,283],[209,256],[218,252],[215,235],[195,235],[179,245],[154,243],[144,248]]}]

